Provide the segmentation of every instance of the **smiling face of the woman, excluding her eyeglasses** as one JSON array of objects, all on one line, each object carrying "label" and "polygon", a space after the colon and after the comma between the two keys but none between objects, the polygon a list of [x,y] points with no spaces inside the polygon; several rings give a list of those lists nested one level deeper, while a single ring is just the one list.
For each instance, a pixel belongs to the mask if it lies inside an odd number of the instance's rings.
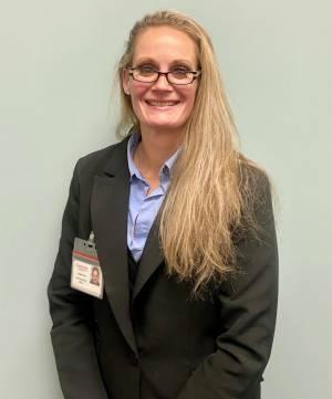
[{"label": "smiling face of the woman, excluding her eyeglasses", "polygon": [[[176,67],[197,71],[197,64],[196,43],[188,34],[169,27],[156,27],[138,35],[131,66],[146,65],[167,72]],[[142,132],[180,132],[194,107],[197,80],[188,85],[175,85],[160,75],[157,82],[141,83],[125,70],[123,88],[132,97]]]}]

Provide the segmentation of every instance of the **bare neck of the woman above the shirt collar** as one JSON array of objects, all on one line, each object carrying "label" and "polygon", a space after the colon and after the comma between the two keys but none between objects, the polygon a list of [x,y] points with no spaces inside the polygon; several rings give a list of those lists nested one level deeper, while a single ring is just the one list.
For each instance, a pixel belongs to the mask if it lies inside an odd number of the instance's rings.
[{"label": "bare neck of the woman above the shirt collar", "polygon": [[134,154],[134,161],[139,164],[141,172],[158,176],[162,166],[181,145],[183,134],[146,129],[142,129],[141,134],[142,141]]}]

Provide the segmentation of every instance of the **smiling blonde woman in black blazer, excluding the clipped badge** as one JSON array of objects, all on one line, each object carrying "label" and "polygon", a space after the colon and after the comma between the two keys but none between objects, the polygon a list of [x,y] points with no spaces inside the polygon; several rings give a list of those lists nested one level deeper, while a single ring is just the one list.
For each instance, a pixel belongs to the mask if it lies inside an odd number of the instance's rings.
[{"label": "smiling blonde woman in black blazer, excluding the clipped badge", "polygon": [[[118,78],[126,137],[79,160],[49,286],[64,397],[258,399],[277,309],[270,188],[237,149],[210,40],[178,12],[146,15]],[[74,239],[92,231],[102,300],[70,287]]]}]

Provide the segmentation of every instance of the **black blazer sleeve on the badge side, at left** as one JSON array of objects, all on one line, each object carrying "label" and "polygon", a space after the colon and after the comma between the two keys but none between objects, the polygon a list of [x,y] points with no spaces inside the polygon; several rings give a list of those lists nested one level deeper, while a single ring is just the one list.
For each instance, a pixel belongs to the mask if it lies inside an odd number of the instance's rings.
[{"label": "black blazer sleeve on the badge side, at left", "polygon": [[65,399],[107,399],[92,332],[92,301],[70,286],[72,249],[79,233],[80,183],[77,162],[62,219],[60,246],[48,295],[52,345]]}]

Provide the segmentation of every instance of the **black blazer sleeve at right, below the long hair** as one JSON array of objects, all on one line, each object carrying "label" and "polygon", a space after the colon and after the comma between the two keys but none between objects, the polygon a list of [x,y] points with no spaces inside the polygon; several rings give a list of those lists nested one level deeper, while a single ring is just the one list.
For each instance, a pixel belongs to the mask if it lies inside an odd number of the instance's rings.
[{"label": "black blazer sleeve at right, below the long hair", "polygon": [[177,399],[251,399],[259,395],[278,298],[277,239],[266,177],[259,191],[259,237],[240,241],[241,272],[218,293],[222,333],[216,339],[217,349],[194,370]]}]

